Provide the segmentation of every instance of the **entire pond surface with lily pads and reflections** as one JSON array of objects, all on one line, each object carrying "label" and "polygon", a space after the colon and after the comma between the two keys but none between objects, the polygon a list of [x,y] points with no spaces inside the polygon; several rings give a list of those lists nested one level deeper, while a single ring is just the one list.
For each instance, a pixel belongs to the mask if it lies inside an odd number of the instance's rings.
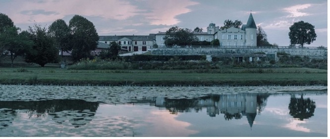
[{"label": "entire pond surface with lily pads and reflections", "polygon": [[0,137],[327,137],[326,89],[0,85]]}]

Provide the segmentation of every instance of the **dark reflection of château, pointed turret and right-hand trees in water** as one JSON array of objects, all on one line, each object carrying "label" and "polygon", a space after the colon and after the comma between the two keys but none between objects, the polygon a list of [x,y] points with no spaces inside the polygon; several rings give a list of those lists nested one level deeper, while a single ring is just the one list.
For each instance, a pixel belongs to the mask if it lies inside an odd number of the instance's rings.
[{"label": "dark reflection of ch\u00e2teau, pointed turret and right-hand trees in water", "polygon": [[[296,98],[296,94],[301,94]],[[240,94],[208,94],[197,98],[167,98],[167,97],[143,97],[134,103],[146,103],[156,107],[165,108],[170,114],[180,112],[199,112],[206,108],[210,117],[223,114],[224,120],[241,119],[244,116],[252,128],[257,114],[261,114],[267,105],[270,93],[240,93]],[[293,118],[299,120],[308,119],[314,115],[315,102],[310,98],[303,98],[302,93],[277,93],[272,95],[291,95],[289,110]]]}]

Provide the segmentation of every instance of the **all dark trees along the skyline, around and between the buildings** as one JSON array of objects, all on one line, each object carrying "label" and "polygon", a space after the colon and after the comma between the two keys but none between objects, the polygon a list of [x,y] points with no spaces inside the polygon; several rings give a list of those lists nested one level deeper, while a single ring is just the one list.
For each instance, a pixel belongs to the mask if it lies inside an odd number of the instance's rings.
[{"label": "all dark trees along the skyline, around and between the buildings", "polygon": [[[28,30],[21,31],[13,21],[3,13],[0,13],[0,56],[10,55],[11,65],[17,56],[24,56],[28,63],[36,63],[45,66],[47,63],[59,62],[63,52],[71,54],[71,59],[77,62],[83,58],[92,58],[91,50],[98,46],[99,35],[94,24],[80,15],[74,15],[69,24],[64,20],[55,20],[48,28],[34,24]],[[239,20],[225,20],[221,30],[230,27],[240,28],[242,22]],[[310,44],[316,40],[314,26],[308,22],[299,21],[290,28],[289,39],[291,45]],[[211,42],[199,41],[194,35],[203,32],[202,28],[194,30],[187,28],[171,27],[165,33],[165,45],[172,46],[219,46],[220,41],[215,39]],[[257,28],[257,46],[274,46],[267,40],[267,34],[261,26]],[[120,45],[110,43],[110,48],[103,51],[103,58],[116,59]],[[60,52],[60,54],[58,54]]]}]

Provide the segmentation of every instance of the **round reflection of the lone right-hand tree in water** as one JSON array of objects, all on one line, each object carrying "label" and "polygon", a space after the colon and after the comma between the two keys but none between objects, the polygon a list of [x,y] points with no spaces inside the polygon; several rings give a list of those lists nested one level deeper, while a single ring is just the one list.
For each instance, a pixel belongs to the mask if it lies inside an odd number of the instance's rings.
[{"label": "round reflection of the lone right-hand tree in water", "polygon": [[293,116],[293,118],[299,118],[300,121],[304,119],[308,119],[314,116],[314,110],[316,108],[315,102],[310,98],[304,99],[301,94],[300,98],[295,98],[291,96],[290,104],[289,104],[289,114]]}]

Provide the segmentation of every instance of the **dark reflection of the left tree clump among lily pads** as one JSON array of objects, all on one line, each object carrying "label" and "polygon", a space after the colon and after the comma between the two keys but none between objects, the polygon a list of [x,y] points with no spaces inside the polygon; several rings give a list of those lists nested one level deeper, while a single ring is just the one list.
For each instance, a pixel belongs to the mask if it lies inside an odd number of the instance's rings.
[{"label": "dark reflection of the left tree clump among lily pads", "polygon": [[0,130],[12,123],[18,111],[27,113],[28,118],[43,118],[49,115],[59,124],[67,120],[78,128],[93,119],[98,107],[98,102],[76,99],[0,101]]}]

